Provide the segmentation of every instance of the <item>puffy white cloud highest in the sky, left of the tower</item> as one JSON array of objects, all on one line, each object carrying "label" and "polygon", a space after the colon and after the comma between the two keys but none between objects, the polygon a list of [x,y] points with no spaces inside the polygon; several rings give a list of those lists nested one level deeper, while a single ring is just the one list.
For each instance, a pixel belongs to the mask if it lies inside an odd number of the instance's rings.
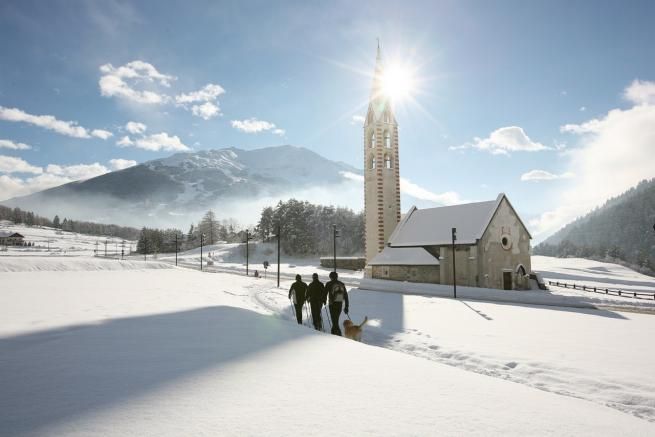
[{"label": "puffy white cloud highest in the sky, left of the tower", "polygon": [[170,87],[175,76],[160,73],[152,65],[136,60],[118,68],[111,64],[100,66],[103,75],[98,81],[100,93],[105,97],[121,97],[137,103],[162,104],[170,100],[166,94],[157,91],[135,89],[135,85],[156,84]]}]

